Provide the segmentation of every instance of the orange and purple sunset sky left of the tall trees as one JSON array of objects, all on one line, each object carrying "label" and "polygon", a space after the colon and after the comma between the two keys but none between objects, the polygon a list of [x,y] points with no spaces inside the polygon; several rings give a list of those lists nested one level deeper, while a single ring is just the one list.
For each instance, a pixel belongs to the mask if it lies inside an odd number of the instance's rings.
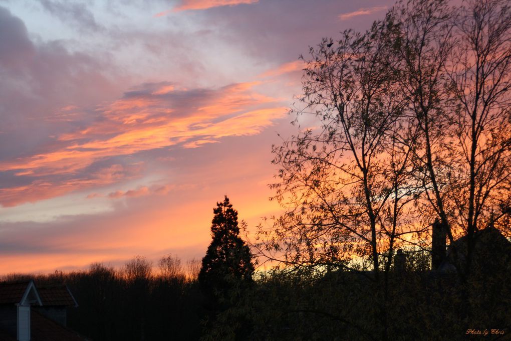
[{"label": "orange and purple sunset sky left of the tall trees", "polygon": [[277,214],[298,56],[392,4],[0,0],[0,274],[200,259],[225,194]]}]

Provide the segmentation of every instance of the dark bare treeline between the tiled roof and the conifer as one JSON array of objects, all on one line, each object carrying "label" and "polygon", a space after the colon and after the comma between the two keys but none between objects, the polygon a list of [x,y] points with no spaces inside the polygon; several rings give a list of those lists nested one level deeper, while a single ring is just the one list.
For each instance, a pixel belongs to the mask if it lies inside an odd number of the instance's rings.
[{"label": "dark bare treeline between the tiled roof and the conifer", "polygon": [[159,261],[159,271],[151,265],[137,256],[121,269],[94,263],[86,270],[11,274],[3,280],[65,283],[78,302],[68,308],[67,326],[95,341],[199,339],[204,316],[196,280],[200,262],[183,267],[168,255]]}]

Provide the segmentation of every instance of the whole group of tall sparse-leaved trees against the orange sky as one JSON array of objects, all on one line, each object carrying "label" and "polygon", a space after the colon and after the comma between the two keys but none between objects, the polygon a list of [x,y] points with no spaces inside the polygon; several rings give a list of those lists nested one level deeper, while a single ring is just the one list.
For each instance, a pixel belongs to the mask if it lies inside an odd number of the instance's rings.
[{"label": "whole group of tall sparse-leaved trees against the orange sky", "polygon": [[285,213],[260,225],[256,246],[292,268],[362,270],[380,339],[396,248],[429,248],[440,218],[452,245],[467,236],[466,277],[474,233],[507,212],[510,12],[501,0],[410,0],[364,34],[310,48],[291,110],[300,131],[273,146]]}]

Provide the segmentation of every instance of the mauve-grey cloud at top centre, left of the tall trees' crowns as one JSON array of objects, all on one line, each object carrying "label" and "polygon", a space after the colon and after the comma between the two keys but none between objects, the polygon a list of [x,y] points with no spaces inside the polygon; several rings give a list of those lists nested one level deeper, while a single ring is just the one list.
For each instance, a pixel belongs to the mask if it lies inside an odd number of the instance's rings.
[{"label": "mauve-grey cloud at top centre, left of the tall trees' crowns", "polygon": [[[221,27],[225,39],[232,40],[252,56],[286,62],[297,59],[299,54],[305,55],[308,46],[315,46],[322,37],[335,39],[345,29],[368,29],[371,19],[382,18],[384,14],[374,13],[367,16],[369,19],[349,24],[340,21],[339,14],[374,6],[374,2],[261,0],[252,6],[212,8],[207,15],[190,15],[204,20],[206,26]],[[394,3],[394,0],[378,2],[389,7]]]}]

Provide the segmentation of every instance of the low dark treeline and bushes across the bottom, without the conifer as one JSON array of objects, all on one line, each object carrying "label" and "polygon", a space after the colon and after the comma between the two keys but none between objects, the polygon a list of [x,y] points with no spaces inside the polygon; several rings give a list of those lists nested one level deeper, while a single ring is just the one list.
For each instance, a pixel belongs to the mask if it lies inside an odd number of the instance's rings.
[{"label": "low dark treeline and bushes across the bottom, without the conifer", "polygon": [[[390,269],[387,334],[393,340],[461,340],[468,330],[488,330],[485,339],[506,339],[511,315],[509,250],[483,261],[467,283],[455,272],[430,269],[431,257],[408,254],[403,268]],[[489,253],[487,256],[493,256]],[[483,257],[485,258],[485,257]],[[374,271],[328,268],[257,272],[250,285],[230,281],[212,305],[189,269],[169,255],[159,270],[143,257],[114,269],[49,275],[9,275],[36,285],[65,283],[79,306],[68,309],[67,326],[91,340],[378,340],[381,319]],[[463,297],[474,306],[464,311]],[[492,334],[499,332],[500,334]]]}]

